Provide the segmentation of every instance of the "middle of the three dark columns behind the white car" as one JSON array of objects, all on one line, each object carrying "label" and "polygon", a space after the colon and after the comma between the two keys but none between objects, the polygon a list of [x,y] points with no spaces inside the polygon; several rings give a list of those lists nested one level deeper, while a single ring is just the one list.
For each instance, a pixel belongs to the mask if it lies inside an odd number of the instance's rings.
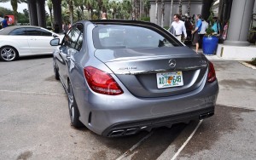
[{"label": "middle of the three dark columns behind the white car", "polygon": [[46,28],[45,20],[45,0],[37,0],[38,26]]}]

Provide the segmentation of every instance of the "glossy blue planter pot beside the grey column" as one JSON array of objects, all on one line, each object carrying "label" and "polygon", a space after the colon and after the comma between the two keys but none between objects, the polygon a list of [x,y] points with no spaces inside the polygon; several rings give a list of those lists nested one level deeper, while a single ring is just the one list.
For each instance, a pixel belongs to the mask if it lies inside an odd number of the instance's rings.
[{"label": "glossy blue planter pot beside the grey column", "polygon": [[202,41],[203,54],[215,54],[218,47],[218,37],[216,36],[205,36]]}]

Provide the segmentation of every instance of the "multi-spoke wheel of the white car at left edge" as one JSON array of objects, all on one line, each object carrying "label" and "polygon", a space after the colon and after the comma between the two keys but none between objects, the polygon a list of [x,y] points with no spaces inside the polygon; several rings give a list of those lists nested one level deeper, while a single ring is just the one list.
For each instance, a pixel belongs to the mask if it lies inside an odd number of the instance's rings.
[{"label": "multi-spoke wheel of the white car at left edge", "polygon": [[18,51],[10,46],[3,46],[0,49],[0,59],[4,61],[13,61],[19,57]]}]

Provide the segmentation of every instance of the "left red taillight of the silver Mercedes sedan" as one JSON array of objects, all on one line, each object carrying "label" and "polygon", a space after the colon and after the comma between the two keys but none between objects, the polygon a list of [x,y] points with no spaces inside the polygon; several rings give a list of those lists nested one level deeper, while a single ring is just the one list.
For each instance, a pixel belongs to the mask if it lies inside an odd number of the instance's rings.
[{"label": "left red taillight of the silver Mercedes sedan", "polygon": [[99,94],[119,95],[123,90],[115,82],[113,77],[105,71],[101,71],[92,66],[84,68],[84,77],[90,86],[90,89]]}]

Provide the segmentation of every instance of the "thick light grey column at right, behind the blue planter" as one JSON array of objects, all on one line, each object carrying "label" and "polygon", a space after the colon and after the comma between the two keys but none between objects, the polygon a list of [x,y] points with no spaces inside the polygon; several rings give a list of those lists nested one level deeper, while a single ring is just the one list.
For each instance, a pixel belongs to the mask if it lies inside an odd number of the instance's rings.
[{"label": "thick light grey column at right, behind the blue planter", "polygon": [[227,40],[224,45],[248,46],[248,31],[255,0],[233,0]]}]

